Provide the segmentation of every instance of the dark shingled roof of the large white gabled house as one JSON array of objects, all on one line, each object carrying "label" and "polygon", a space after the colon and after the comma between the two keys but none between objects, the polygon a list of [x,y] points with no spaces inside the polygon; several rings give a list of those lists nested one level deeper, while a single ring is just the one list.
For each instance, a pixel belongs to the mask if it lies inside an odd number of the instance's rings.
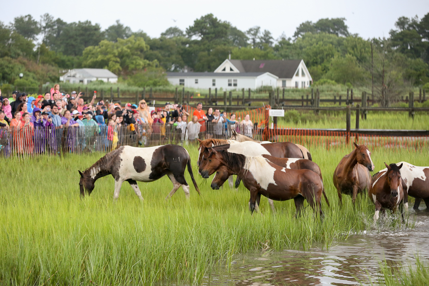
[{"label": "dark shingled roof of the large white gabled house", "polygon": [[301,60],[230,60],[240,72],[269,72],[279,78],[292,78]]}]

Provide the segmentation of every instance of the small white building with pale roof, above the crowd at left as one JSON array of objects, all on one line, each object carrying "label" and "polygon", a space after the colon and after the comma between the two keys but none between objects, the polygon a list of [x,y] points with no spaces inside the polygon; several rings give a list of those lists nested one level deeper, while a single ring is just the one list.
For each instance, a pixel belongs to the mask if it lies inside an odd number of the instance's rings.
[{"label": "small white building with pale roof, above the crowd at left", "polygon": [[60,76],[60,81],[70,83],[88,84],[91,81],[102,80],[104,82],[117,83],[118,75],[109,69],[71,69]]}]

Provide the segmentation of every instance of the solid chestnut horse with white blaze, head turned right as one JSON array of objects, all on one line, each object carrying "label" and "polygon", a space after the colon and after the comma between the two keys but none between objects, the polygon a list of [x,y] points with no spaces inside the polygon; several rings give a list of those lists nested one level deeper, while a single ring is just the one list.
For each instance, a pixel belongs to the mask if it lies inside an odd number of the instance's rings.
[{"label": "solid chestnut horse with white blaze, head turned right", "polygon": [[365,145],[354,143],[354,146],[353,151],[341,159],[333,175],[340,206],[343,205],[341,194],[352,196],[354,207],[357,194],[362,193],[365,189],[369,190],[371,184],[369,171],[374,170],[371,152]]}]

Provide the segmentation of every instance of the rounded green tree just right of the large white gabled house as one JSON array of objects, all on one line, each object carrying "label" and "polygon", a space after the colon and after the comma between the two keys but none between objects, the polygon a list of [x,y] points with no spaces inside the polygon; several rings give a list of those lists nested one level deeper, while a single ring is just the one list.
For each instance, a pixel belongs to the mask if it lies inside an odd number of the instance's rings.
[{"label": "rounded green tree just right of the large white gabled house", "polygon": [[363,85],[367,76],[356,57],[346,54],[345,57],[336,56],[331,60],[329,71],[326,72],[324,78],[341,84],[350,82],[353,85]]}]

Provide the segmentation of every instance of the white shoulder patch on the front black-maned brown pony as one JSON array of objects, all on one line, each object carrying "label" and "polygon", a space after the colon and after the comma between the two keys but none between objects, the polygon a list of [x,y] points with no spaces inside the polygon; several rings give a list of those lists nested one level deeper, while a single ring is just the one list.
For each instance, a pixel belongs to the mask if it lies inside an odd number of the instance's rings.
[{"label": "white shoulder patch on the front black-maned brown pony", "polygon": [[244,169],[251,172],[253,178],[260,184],[262,189],[267,190],[269,184],[277,186],[274,181],[274,172],[276,169],[272,167],[264,157],[246,156]]}]

